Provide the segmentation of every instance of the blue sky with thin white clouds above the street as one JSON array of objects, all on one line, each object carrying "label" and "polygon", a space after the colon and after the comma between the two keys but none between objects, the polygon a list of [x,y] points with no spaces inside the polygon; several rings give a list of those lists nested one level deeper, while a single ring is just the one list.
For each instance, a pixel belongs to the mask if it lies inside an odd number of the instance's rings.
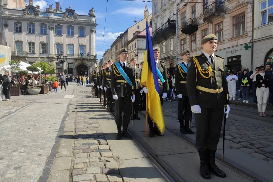
[{"label": "blue sky with thin white clouds above the street", "polygon": [[[28,3],[28,0],[26,0]],[[58,0],[33,0],[33,5],[40,4],[41,8],[48,7],[47,4],[53,4]],[[60,0],[59,0],[60,2]],[[94,6],[96,23],[96,53],[100,59],[103,53],[110,49],[111,44],[121,33],[134,24],[134,20],[142,20],[145,5],[147,4],[149,12],[152,13],[152,2],[134,2],[108,0],[108,8],[106,13],[107,0],[62,0],[62,10],[72,6],[72,9],[80,15],[88,15],[89,10]],[[106,13],[106,23],[104,30]],[[103,31],[104,38],[103,39]]]}]

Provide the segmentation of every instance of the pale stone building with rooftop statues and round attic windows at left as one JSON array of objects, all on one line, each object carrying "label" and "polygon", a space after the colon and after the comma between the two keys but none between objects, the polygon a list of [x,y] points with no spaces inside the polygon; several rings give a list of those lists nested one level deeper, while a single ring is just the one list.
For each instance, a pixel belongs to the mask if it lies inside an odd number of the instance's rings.
[{"label": "pale stone building with rooftop statues and round attic windows at left", "polygon": [[56,73],[62,72],[57,55],[67,55],[63,63],[69,75],[89,75],[97,64],[95,10],[89,15],[79,15],[71,6],[64,12],[49,6],[40,9],[29,5],[9,8],[4,5],[4,43],[11,47],[11,59],[30,64],[46,58]]}]

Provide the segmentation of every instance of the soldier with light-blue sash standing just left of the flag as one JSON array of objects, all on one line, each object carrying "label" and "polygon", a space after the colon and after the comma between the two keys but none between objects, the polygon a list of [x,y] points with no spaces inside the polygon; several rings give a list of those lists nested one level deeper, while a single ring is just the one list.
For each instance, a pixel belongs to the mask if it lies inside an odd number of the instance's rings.
[{"label": "soldier with light-blue sash standing just left of the flag", "polygon": [[[132,112],[132,102],[135,101],[136,93],[136,83],[133,75],[134,67],[129,62],[127,62],[127,49],[122,48],[118,52],[120,61],[118,64],[121,69],[126,73],[132,82],[132,86],[126,81],[122,76],[122,73],[118,71],[118,67],[113,64],[111,67],[111,90],[113,99],[115,99],[116,105],[116,126],[117,126],[117,136],[116,139],[120,140],[122,136],[126,138],[132,138],[132,136],[127,132],[128,125],[130,123],[130,116]],[[129,81],[129,82],[130,82]],[[134,94],[132,94],[134,93]],[[123,112],[123,118],[122,118]],[[123,131],[121,132],[121,124],[123,122]]]}]

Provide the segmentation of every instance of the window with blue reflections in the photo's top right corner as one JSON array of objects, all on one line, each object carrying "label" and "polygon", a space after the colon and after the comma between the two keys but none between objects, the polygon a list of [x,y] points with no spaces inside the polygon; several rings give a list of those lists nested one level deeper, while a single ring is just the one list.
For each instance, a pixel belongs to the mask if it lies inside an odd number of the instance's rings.
[{"label": "window with blue reflections in the photo's top right corner", "polygon": [[273,0],[261,3],[261,25],[273,22]]}]

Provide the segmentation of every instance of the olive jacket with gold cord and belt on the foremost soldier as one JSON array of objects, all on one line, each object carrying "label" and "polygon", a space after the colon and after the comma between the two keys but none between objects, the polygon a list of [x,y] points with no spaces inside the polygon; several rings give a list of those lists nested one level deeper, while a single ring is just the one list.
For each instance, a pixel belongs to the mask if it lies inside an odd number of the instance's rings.
[{"label": "olive jacket with gold cord and belt on the foremost soldier", "polygon": [[[193,57],[197,59],[200,66],[195,65]],[[187,91],[190,105],[199,105],[201,108],[224,108],[225,98],[228,94],[224,59],[220,56],[214,55],[212,78],[209,77],[209,73],[203,73],[209,70],[209,66],[211,66],[211,63],[203,53],[190,58],[187,72],[188,75],[190,75],[187,76]],[[198,67],[201,70],[199,70]],[[204,76],[208,78],[204,78]],[[208,89],[220,89],[223,87],[223,92],[218,94],[205,92],[196,89],[197,85]]]}]

